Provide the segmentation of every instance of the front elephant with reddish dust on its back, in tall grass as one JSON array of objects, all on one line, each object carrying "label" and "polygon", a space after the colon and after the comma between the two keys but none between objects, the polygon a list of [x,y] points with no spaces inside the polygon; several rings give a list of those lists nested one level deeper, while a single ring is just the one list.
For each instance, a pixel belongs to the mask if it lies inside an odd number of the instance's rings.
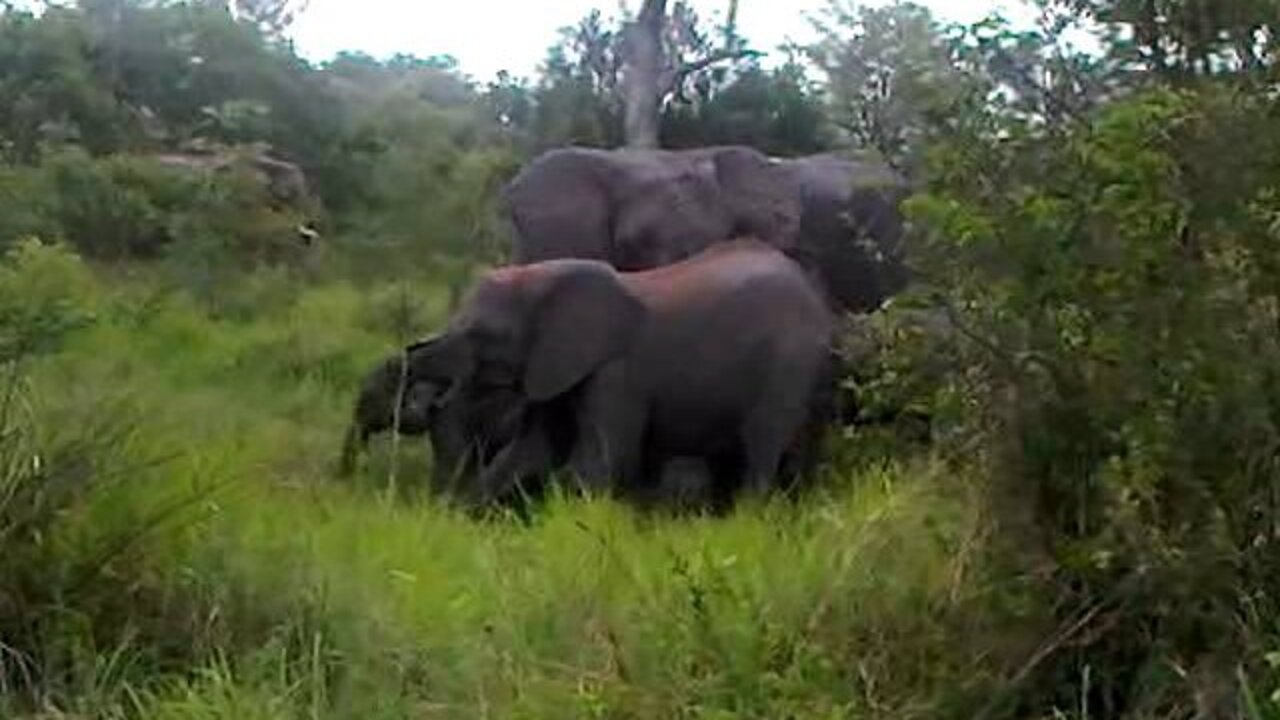
[{"label": "front elephant with reddish dust on its back, in tall grass", "polygon": [[[723,507],[744,487],[769,489],[803,445],[832,332],[801,268],[744,238],[635,273],[584,259],[492,270],[443,333],[406,348],[407,375],[561,409],[552,421],[522,415],[518,437],[468,486],[472,502],[557,465],[636,497],[668,460],[700,457]],[[564,462],[550,430],[571,438]]]}]

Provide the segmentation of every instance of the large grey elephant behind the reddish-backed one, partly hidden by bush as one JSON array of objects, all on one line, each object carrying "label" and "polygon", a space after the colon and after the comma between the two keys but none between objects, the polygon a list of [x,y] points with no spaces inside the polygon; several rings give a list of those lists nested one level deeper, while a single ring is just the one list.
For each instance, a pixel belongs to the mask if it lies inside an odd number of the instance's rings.
[{"label": "large grey elephant behind the reddish-backed one, partly hidden by bush", "polygon": [[669,265],[755,236],[801,263],[841,310],[874,310],[906,284],[890,168],[836,155],[771,159],[744,146],[544,152],[503,190],[512,261],[581,258]]}]

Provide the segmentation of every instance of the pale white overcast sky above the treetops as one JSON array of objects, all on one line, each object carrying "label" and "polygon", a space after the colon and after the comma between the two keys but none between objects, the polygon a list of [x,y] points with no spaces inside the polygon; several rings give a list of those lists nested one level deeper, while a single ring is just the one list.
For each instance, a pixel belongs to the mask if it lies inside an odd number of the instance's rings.
[{"label": "pale white overcast sky above the treetops", "polygon": [[[632,9],[640,0],[626,0]],[[918,0],[942,20],[972,22],[993,10],[1033,17],[1020,0]],[[463,72],[490,79],[498,70],[530,76],[556,41],[591,8],[617,14],[620,0],[311,0],[292,35],[298,51],[326,60],[339,50],[378,58],[396,53],[449,54]],[[882,0],[867,4],[879,5]],[[787,40],[812,37],[805,13],[827,0],[740,0],[739,29],[755,47],[772,50]],[[719,18],[728,0],[694,0],[704,19]]]}]

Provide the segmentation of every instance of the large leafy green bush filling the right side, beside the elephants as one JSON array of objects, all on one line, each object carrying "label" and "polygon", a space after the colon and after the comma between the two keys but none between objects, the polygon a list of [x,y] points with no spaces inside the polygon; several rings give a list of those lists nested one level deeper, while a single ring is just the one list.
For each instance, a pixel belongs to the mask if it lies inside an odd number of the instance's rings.
[{"label": "large leafy green bush filling the right side, beside the elephants", "polygon": [[[1010,547],[1052,568],[1059,598],[1061,637],[1021,674],[1041,682],[1006,712],[1087,697],[1105,716],[1222,716],[1235,666],[1271,650],[1244,620],[1280,598],[1267,114],[1230,91],[1152,91],[1061,133],[991,117],[975,127],[998,132],[934,149],[911,201],[916,295],[960,342],[902,348],[908,368],[948,359],[910,389],[954,456],[997,478]],[[1208,182],[1222,135],[1258,149],[1231,160],[1228,193]]]}]

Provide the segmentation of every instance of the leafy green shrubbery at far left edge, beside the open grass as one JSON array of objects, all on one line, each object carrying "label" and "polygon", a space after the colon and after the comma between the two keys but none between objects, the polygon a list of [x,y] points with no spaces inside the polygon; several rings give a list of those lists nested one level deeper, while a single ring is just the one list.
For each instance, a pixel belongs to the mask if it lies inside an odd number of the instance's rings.
[{"label": "leafy green shrubbery at far left edge, beside the open grass", "polygon": [[[128,618],[128,602],[141,589],[134,579],[122,578],[124,566],[137,562],[131,551],[180,509],[169,506],[148,516],[148,503],[138,503],[116,521],[93,518],[87,510],[91,497],[110,497],[131,483],[141,484],[145,475],[134,464],[138,448],[125,407],[104,402],[59,428],[46,424],[33,402],[35,361],[86,331],[96,296],[87,268],[56,246],[23,242],[0,266],[0,696],[5,700],[37,698],[64,674],[99,662],[96,643],[125,639],[122,618]],[[86,624],[92,630],[86,632]]]}]

